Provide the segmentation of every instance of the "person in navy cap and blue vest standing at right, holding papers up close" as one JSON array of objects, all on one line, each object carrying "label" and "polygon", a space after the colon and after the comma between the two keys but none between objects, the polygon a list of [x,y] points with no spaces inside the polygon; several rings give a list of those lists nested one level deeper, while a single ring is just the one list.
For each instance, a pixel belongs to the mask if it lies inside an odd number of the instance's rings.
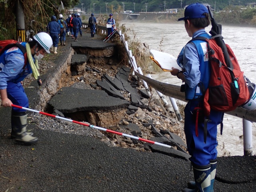
[{"label": "person in navy cap and blue vest standing at right, holding papers up close", "polygon": [[[178,21],[184,21],[188,36],[192,39],[197,36],[211,38],[205,30],[210,24],[209,17],[206,6],[195,3],[186,7],[184,17]],[[183,192],[213,192],[217,162],[217,125],[220,124],[223,113],[211,110],[210,121],[204,122],[203,90],[208,88],[211,74],[207,51],[203,40],[186,44],[177,59],[182,71],[173,68],[171,72],[185,82],[185,97],[188,100],[184,109],[184,132],[195,181],[188,182],[188,188],[183,189]]]}]

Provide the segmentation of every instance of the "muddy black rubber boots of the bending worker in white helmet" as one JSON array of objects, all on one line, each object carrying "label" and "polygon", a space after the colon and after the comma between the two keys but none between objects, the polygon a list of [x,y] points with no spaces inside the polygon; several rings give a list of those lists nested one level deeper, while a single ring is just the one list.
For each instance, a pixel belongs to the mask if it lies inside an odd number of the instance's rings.
[{"label": "muddy black rubber boots of the bending worker in white helmet", "polygon": [[[27,115],[26,112],[12,112],[12,136],[17,142],[32,144],[38,141],[37,137],[27,133]],[[32,134],[33,135],[33,134]]]}]

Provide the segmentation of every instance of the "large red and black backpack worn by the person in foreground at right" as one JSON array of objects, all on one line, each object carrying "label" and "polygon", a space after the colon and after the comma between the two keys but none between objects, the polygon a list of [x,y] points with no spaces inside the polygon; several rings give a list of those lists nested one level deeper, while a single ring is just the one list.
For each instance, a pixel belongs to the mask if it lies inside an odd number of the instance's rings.
[{"label": "large red and black backpack worn by the person in foreground at right", "polygon": [[211,63],[210,83],[208,89],[204,91],[204,115],[208,117],[211,109],[227,112],[246,103],[250,99],[250,93],[243,75],[244,72],[240,70],[230,46],[226,44],[231,60],[231,66],[228,66],[222,49],[217,45],[214,37],[209,39],[199,36],[190,42],[194,40],[207,42],[207,53]]}]

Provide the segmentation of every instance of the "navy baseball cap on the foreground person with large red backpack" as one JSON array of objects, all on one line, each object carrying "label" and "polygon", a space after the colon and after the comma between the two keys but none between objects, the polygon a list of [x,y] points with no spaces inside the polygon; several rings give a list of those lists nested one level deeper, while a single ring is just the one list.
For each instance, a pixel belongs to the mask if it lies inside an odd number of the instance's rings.
[{"label": "navy baseball cap on the foreground person with large red backpack", "polygon": [[208,13],[208,9],[203,4],[194,3],[186,7],[184,17],[179,18],[178,21],[184,21],[185,19],[205,18],[204,13]]}]

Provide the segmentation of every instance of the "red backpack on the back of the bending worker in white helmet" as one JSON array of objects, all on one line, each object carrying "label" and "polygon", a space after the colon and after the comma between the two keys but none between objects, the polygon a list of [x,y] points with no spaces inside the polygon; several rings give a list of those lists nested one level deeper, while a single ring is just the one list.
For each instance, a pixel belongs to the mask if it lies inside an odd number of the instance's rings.
[{"label": "red backpack on the back of the bending worker in white helmet", "polygon": [[23,66],[23,69],[24,69],[27,64],[27,61],[28,61],[27,51],[26,51],[26,48],[24,46],[22,46],[22,44],[20,44],[18,41],[16,41],[16,40],[0,41],[0,55],[2,55],[4,53],[4,51],[6,51],[12,47],[18,47],[22,51],[22,53],[24,55],[24,66]]}]

